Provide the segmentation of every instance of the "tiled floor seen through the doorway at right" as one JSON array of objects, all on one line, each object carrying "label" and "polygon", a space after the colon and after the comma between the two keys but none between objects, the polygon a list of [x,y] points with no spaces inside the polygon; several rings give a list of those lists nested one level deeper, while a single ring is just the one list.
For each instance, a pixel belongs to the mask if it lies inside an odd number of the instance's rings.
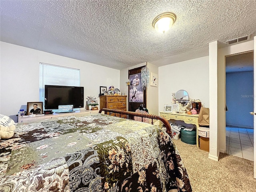
[{"label": "tiled floor seen through the doorway at right", "polygon": [[226,126],[226,153],[254,160],[254,130]]}]

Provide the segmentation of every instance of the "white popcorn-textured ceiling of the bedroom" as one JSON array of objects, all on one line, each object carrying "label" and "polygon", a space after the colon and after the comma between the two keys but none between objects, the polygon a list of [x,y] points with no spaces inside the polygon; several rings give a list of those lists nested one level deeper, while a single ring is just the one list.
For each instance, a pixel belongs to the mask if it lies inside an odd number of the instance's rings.
[{"label": "white popcorn-textured ceiling of the bedroom", "polygon": [[[255,0],[1,0],[0,40],[123,69],[208,55],[208,43],[256,35]],[[162,12],[171,30],[152,27]]]}]

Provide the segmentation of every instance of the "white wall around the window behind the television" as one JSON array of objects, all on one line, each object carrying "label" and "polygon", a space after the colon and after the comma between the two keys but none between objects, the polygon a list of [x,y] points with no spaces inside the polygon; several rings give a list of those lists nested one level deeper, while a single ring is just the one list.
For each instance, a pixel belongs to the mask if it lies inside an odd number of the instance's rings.
[{"label": "white wall around the window behind the television", "polygon": [[84,98],[98,99],[100,86],[120,87],[120,71],[96,64],[0,42],[0,114],[16,120],[27,102],[39,101],[39,62],[80,69]]}]

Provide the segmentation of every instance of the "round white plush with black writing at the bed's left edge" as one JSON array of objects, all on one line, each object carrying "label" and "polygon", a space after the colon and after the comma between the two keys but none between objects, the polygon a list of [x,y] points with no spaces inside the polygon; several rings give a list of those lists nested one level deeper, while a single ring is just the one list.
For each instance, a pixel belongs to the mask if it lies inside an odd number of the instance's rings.
[{"label": "round white plush with black writing at the bed's left edge", "polygon": [[16,126],[10,117],[0,114],[0,139],[9,139],[14,135]]}]

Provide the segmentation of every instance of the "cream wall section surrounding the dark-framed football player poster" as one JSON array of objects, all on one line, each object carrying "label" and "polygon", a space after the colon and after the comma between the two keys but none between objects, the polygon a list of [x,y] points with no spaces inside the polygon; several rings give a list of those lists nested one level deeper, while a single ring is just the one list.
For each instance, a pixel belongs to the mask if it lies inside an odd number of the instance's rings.
[{"label": "cream wall section surrounding the dark-framed football player poster", "polygon": [[[134,68],[145,66],[145,65],[146,65],[146,63],[141,63],[136,66],[120,70],[120,89],[124,90],[124,93],[126,95],[128,95],[128,86],[126,86],[126,82],[128,81],[128,71],[131,69],[134,69]],[[151,63],[148,63],[148,68],[149,68],[150,72],[158,74],[157,66],[155,66]],[[121,92],[123,92],[123,91],[121,91]],[[149,85],[148,89],[147,89],[146,96],[147,96],[146,100],[147,100],[148,112],[150,114],[159,114],[158,113],[158,87]],[[127,102],[128,102],[128,100],[127,100]],[[127,109],[128,109],[128,105],[127,105]]]}]

